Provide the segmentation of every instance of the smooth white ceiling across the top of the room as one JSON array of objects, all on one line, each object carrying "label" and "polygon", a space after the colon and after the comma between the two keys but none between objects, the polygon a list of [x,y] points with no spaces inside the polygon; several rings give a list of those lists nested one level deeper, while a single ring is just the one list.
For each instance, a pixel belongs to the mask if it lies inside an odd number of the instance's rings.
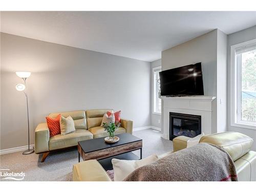
[{"label": "smooth white ceiling across the top of the room", "polygon": [[214,29],[256,25],[256,12],[1,12],[1,32],[144,61]]}]

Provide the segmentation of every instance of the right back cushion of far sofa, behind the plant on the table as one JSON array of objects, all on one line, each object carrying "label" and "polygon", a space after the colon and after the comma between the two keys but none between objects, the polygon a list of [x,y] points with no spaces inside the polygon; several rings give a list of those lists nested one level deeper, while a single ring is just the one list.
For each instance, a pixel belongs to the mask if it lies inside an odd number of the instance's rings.
[{"label": "right back cushion of far sofa, behind the plant on the table", "polygon": [[113,110],[111,109],[105,109],[105,110],[87,110],[86,111],[86,121],[87,121],[87,127],[90,129],[91,127],[100,126],[103,115]]}]

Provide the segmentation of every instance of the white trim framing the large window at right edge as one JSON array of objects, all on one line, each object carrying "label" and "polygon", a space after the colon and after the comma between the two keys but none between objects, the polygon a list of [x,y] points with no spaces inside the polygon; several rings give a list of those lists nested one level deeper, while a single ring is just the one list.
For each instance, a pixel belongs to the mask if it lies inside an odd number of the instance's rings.
[{"label": "white trim framing the large window at right edge", "polygon": [[[238,86],[241,85],[240,76],[238,77],[238,68],[236,62],[236,49],[244,47],[250,44],[255,44],[256,39],[242,42],[241,44],[232,45],[230,47],[230,125],[237,126],[247,129],[256,130],[256,125],[248,124],[242,120],[238,122],[237,113],[238,113],[238,99],[240,95],[238,94]],[[240,74],[240,72],[239,72]]]}]

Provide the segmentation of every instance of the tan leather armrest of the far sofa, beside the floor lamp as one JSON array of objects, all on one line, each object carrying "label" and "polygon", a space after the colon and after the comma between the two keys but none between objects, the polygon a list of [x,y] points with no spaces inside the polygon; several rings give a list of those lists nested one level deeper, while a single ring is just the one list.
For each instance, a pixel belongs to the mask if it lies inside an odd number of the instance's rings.
[{"label": "tan leather armrest of the far sofa, beside the floor lamp", "polygon": [[49,151],[50,131],[47,123],[39,123],[35,129],[35,153]]}]

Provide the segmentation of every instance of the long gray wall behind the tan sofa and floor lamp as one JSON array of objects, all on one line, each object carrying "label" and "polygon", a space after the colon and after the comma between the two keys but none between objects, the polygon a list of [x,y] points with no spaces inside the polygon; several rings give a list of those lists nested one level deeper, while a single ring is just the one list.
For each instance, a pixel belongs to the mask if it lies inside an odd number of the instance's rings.
[{"label": "long gray wall behind the tan sofa and floor lamp", "polygon": [[27,145],[23,83],[15,71],[31,71],[28,98],[34,129],[51,112],[121,110],[134,127],[151,125],[151,63],[1,33],[1,150]]}]

